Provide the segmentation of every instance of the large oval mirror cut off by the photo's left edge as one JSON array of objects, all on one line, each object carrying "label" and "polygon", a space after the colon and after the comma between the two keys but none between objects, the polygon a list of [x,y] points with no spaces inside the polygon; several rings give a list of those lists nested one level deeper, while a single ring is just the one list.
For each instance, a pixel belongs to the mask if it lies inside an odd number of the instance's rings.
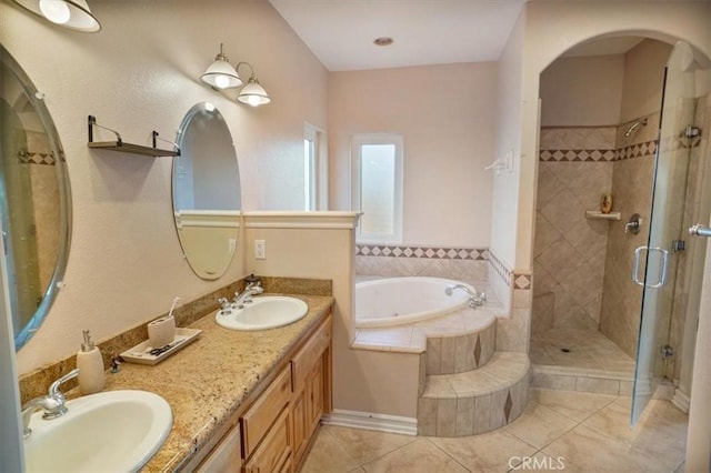
[{"label": "large oval mirror cut off by the photo's left edge", "polygon": [[19,350],[56,299],[69,255],[70,191],[57,130],[30,79],[0,46],[0,224]]}]

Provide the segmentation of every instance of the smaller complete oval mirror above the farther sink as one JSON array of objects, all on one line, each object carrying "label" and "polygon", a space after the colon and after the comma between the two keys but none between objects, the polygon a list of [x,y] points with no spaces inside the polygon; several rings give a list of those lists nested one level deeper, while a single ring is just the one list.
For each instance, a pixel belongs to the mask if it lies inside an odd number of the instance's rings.
[{"label": "smaller complete oval mirror above the farther sink", "polygon": [[227,271],[240,223],[240,171],[232,135],[211,103],[192,107],[178,131],[173,213],[190,268],[213,280]]}]

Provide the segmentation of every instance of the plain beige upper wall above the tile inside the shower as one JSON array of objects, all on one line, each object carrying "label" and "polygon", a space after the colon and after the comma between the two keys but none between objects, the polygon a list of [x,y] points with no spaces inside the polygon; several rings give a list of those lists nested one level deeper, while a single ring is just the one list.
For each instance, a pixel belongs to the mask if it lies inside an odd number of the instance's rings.
[{"label": "plain beige upper wall above the tile inside the shower", "polygon": [[541,73],[541,127],[617,125],[624,56],[557,59]]}]

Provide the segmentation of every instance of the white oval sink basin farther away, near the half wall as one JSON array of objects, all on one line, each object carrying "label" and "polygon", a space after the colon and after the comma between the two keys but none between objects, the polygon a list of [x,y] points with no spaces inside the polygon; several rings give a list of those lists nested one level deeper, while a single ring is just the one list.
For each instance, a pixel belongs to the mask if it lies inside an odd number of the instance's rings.
[{"label": "white oval sink basin farther away, near the half wall", "polygon": [[232,309],[228,314],[218,311],[214,320],[221,326],[232,330],[266,330],[289,325],[302,319],[309,306],[296,298],[264,295],[254,298],[244,309]]}]

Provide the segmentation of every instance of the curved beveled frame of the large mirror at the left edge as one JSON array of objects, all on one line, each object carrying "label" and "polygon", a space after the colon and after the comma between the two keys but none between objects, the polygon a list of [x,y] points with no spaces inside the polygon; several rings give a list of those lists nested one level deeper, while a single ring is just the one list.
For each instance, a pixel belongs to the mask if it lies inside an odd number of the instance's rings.
[{"label": "curved beveled frame of the large mirror at the left edge", "polygon": [[[39,330],[42,322],[47,319],[49,310],[52,306],[59,290],[63,286],[64,272],[67,270],[67,262],[69,260],[69,249],[71,241],[71,187],[69,182],[69,173],[67,170],[67,161],[64,158],[64,151],[59,140],[59,134],[54,122],[49,113],[49,109],[44,103],[44,94],[39,92],[29,76],[14,60],[14,58],[8,52],[2,44],[0,44],[0,63],[2,68],[9,70],[18,80],[29,102],[34,108],[38,114],[42,128],[47,134],[50,150],[54,157],[54,167],[57,172],[58,190],[59,190],[59,248],[57,251],[57,262],[52,276],[49,280],[49,284],[42,295],[42,302],[40,302],[37,311],[28,323],[17,332],[14,335],[14,350],[19,351]],[[17,328],[13,329],[13,331]]]}]

